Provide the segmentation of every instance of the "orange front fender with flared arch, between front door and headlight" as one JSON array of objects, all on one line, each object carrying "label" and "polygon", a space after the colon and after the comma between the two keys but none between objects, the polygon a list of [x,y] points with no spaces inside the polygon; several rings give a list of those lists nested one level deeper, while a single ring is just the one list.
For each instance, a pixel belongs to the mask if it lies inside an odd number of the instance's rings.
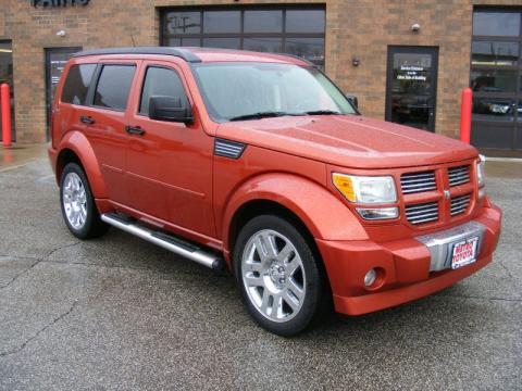
[{"label": "orange front fender with flared arch, between front door and headlight", "polygon": [[225,252],[235,213],[256,200],[297,215],[315,239],[368,239],[350,210],[326,188],[324,163],[248,146],[239,160],[214,156],[214,207]]}]

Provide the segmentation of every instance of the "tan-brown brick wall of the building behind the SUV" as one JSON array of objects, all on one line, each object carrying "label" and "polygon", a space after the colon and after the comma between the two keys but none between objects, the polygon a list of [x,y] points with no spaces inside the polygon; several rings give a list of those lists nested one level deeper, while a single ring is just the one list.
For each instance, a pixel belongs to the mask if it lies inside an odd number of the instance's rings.
[{"label": "tan-brown brick wall of the building behind the SUV", "polygon": [[[0,39],[13,41],[16,135],[20,142],[46,139],[45,48],[84,49],[158,45],[159,7],[276,3],[231,0],[90,0],[85,8],[32,8],[2,0]],[[469,84],[473,4],[520,5],[520,0],[325,0],[326,73],[359,97],[365,115],[384,118],[387,47],[439,47],[436,131],[456,136],[460,90]],[[419,23],[418,34],[410,31]],[[58,30],[65,37],[58,37]],[[361,64],[351,65],[358,56]]]}]

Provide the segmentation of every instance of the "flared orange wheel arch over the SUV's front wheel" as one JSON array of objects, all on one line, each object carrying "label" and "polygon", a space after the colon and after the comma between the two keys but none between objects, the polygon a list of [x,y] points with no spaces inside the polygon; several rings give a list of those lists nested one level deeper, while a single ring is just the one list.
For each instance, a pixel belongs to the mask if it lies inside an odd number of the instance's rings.
[{"label": "flared orange wheel arch over the SUV's front wheel", "polygon": [[261,214],[288,218],[304,229],[313,245],[314,239],[368,239],[357,217],[324,186],[290,174],[265,174],[236,189],[223,214],[223,248],[229,266],[241,226]]}]

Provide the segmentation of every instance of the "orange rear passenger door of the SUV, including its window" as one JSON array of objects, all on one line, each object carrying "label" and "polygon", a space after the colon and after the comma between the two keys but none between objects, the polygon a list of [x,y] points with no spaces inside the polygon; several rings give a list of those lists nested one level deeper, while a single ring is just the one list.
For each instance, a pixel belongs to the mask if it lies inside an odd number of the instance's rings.
[{"label": "orange rear passenger door of the SUV, including its window", "polygon": [[117,203],[128,201],[124,186],[125,149],[128,136],[125,131],[126,109],[135,83],[138,61],[107,61],[98,65],[87,101],[79,112],[79,122],[92,146],[109,198]]}]

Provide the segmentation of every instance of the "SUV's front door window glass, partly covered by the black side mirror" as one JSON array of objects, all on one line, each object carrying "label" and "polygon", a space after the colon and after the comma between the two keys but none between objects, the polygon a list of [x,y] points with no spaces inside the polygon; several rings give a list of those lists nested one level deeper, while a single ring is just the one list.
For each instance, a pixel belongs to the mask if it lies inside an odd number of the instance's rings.
[{"label": "SUV's front door window glass, partly covered by the black side mirror", "polygon": [[154,96],[181,98],[185,104],[188,101],[185,87],[175,71],[151,66],[145,75],[139,114],[149,115],[149,100]]}]

